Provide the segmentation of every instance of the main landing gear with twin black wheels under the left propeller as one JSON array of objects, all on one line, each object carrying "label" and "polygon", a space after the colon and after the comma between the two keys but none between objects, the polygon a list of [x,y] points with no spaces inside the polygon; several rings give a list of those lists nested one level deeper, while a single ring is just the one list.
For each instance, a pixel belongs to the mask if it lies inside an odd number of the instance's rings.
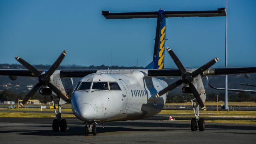
[{"label": "main landing gear with twin black wheels under the left propeller", "polygon": [[60,129],[61,132],[66,132],[67,131],[67,121],[65,119],[61,119],[61,106],[59,104],[60,100],[58,98],[58,111],[57,111],[52,96],[51,96],[51,99],[52,99],[53,109],[54,109],[54,112],[56,115],[56,119],[54,119],[52,122],[52,131],[58,132]]}]

